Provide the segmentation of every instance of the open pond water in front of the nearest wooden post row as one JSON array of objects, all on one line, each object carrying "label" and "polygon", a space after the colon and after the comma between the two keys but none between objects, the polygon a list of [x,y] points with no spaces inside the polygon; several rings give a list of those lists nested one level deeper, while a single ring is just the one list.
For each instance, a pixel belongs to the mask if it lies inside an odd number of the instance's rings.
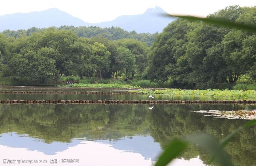
[{"label": "open pond water in front of the nearest wooden post row", "polygon": [[[152,165],[169,141],[196,133],[222,140],[247,120],[206,117],[188,110],[255,109],[255,105],[0,105],[0,162],[54,165]],[[256,164],[256,129],[236,134],[225,148],[237,166]],[[190,146],[171,165],[207,165]],[[79,163],[61,163],[76,159]],[[12,164],[6,164],[12,165]],[[21,164],[28,165],[28,164]],[[215,165],[215,164],[214,164]]]}]

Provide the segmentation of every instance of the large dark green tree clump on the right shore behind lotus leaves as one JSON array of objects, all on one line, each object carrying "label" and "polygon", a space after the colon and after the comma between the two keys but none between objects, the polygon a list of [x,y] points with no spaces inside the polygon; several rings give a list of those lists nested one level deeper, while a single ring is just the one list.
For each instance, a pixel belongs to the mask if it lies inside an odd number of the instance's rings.
[{"label": "large dark green tree clump on the right shore behind lotus leaves", "polygon": [[[255,7],[229,6],[207,16],[256,25]],[[189,88],[230,87],[243,75],[256,78],[256,35],[237,29],[178,19],[153,43],[147,76]]]}]

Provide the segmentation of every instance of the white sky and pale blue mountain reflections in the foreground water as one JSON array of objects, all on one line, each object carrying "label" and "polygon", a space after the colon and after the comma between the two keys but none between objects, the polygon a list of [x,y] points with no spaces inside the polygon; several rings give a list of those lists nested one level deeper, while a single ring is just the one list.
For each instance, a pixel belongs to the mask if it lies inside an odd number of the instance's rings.
[{"label": "white sky and pale blue mountain reflections in the foreground water", "polygon": [[[79,164],[68,165],[118,166],[121,164],[130,166],[139,164],[150,166],[155,163],[155,160],[152,160],[151,157],[155,157],[156,152],[161,151],[158,143],[154,142],[150,136],[134,136],[133,138],[124,138],[117,141],[73,140],[71,143],[59,142],[57,144],[56,142],[44,144],[37,139],[32,141],[31,139],[27,135],[19,136],[16,133],[3,134],[0,142],[4,142],[4,145],[0,145],[0,160],[46,160],[47,164],[40,163],[40,165],[48,165],[51,159],[57,159],[56,164],[61,165],[62,159],[78,159]],[[19,144],[16,145],[13,141],[19,142]],[[140,144],[139,142],[143,143]],[[49,151],[54,151],[54,153],[47,154]],[[190,160],[176,159],[169,166],[188,164],[204,165],[197,157]]]}]

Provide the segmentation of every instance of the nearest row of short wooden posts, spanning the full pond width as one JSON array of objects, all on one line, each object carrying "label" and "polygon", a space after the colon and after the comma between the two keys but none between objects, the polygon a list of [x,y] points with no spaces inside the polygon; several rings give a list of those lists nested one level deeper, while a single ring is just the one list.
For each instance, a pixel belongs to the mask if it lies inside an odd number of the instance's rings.
[{"label": "nearest row of short wooden posts, spanning the full pond width", "polygon": [[0,100],[0,104],[256,104],[252,100]]}]

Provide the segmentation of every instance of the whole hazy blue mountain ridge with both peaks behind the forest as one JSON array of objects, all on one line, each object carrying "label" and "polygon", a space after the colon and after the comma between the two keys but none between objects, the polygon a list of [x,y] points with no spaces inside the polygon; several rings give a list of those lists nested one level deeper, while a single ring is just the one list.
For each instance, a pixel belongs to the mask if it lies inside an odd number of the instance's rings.
[{"label": "whole hazy blue mountain ridge with both peaks behind the forest", "polygon": [[60,27],[61,25],[78,26],[99,26],[120,27],[126,31],[136,31],[138,33],[162,32],[175,18],[160,17],[159,14],[166,13],[162,8],[148,8],[146,12],[138,15],[119,16],[112,21],[101,23],[86,23],[80,18],[76,18],[67,12],[60,11],[57,8],[45,11],[33,11],[30,13],[15,13],[0,16],[0,32],[10,29],[28,29],[31,27],[47,28],[50,26]]}]

